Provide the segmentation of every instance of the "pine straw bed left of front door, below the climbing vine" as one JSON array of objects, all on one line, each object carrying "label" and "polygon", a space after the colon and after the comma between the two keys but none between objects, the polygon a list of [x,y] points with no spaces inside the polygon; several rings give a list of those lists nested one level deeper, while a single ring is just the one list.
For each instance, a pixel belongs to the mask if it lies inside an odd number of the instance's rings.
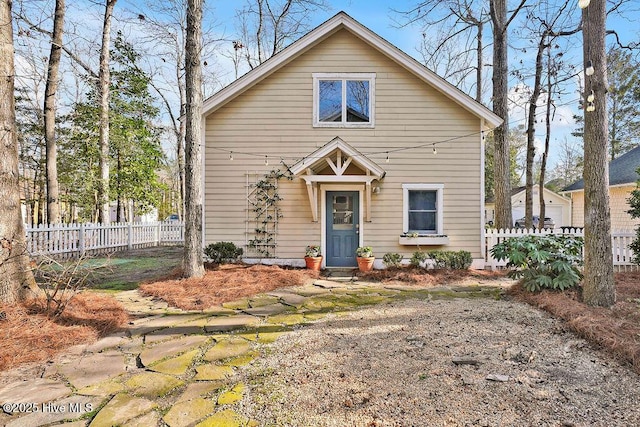
[{"label": "pine straw bed left of front door, below the climbing vine", "polygon": [[223,302],[269,292],[285,286],[300,286],[319,273],[278,266],[224,264],[207,268],[202,279],[164,280],[140,285],[142,295],[153,296],[183,310],[203,310]]}]

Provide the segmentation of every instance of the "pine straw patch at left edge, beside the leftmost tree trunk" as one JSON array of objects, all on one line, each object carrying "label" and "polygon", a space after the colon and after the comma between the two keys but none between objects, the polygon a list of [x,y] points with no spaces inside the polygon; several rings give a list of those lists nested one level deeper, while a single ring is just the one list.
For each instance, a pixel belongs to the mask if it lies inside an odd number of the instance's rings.
[{"label": "pine straw patch at left edge, beside the leftmost tree trunk", "polygon": [[115,299],[78,294],[58,319],[43,313],[41,301],[0,304],[0,371],[49,360],[68,347],[95,341],[125,326],[129,318]]}]

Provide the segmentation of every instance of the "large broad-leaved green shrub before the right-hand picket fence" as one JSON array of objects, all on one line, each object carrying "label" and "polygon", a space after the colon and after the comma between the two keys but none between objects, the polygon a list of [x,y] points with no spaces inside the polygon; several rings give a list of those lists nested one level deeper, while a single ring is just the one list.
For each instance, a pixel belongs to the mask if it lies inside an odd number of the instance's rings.
[{"label": "large broad-leaved green shrub before the right-hand picket fence", "polygon": [[495,245],[491,254],[498,260],[508,259],[509,275],[522,279],[530,292],[541,289],[565,290],[582,279],[582,237],[547,235],[506,239]]}]

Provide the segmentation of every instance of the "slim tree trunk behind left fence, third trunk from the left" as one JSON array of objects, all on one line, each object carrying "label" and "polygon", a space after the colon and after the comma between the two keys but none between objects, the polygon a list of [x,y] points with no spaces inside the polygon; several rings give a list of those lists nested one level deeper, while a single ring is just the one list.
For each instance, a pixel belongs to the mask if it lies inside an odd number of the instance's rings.
[{"label": "slim tree trunk behind left fence, third trunk from the left", "polygon": [[100,47],[100,73],[98,76],[100,92],[100,179],[98,182],[98,221],[110,222],[109,215],[109,47],[111,44],[111,17],[117,0],[106,0],[104,24],[102,27],[102,46]]}]

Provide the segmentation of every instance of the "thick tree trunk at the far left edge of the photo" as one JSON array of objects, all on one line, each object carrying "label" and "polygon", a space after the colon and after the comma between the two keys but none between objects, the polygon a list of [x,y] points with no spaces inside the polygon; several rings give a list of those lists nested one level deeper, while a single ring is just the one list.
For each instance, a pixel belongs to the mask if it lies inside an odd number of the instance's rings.
[{"label": "thick tree trunk at the far left edge of the photo", "polygon": [[0,1],[0,302],[37,291],[29,267],[18,183],[11,0]]}]

